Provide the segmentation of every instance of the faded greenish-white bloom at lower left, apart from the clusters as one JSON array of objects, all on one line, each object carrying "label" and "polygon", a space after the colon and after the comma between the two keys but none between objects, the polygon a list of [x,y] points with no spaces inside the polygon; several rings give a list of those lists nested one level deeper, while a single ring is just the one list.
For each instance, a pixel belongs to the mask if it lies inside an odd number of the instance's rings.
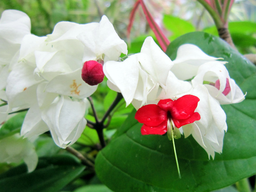
[{"label": "faded greenish-white bloom at lower left, apart from the clusters", "polygon": [[35,146],[19,133],[0,140],[0,163],[20,163],[21,160],[28,166],[28,172],[35,170],[38,157]]}]

